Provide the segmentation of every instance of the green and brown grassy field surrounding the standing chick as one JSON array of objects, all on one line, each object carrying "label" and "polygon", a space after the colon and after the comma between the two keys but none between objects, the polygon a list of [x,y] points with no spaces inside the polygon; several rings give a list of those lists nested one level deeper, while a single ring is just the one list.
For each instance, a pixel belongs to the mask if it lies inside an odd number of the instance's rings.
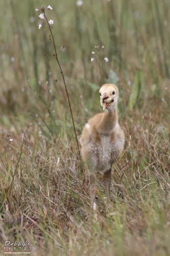
[{"label": "green and brown grassy field surrounding the standing chick", "polygon": [[[78,138],[102,112],[102,84],[119,88],[125,152],[109,205],[96,176],[95,212],[42,5],[64,46]],[[0,255],[5,241],[30,242],[32,256],[170,255],[169,10],[166,0],[0,2]]]}]

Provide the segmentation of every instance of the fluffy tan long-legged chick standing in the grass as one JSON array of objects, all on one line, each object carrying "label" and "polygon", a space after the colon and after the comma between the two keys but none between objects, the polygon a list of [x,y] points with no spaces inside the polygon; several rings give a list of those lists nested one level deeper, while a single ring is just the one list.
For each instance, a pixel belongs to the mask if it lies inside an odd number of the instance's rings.
[{"label": "fluffy tan long-legged chick standing in the grass", "polygon": [[106,83],[99,93],[104,112],[88,120],[80,137],[81,156],[89,173],[89,198],[92,209],[96,207],[96,173],[103,173],[109,202],[111,167],[123,154],[125,144],[124,131],[118,123],[118,88],[114,84]]}]

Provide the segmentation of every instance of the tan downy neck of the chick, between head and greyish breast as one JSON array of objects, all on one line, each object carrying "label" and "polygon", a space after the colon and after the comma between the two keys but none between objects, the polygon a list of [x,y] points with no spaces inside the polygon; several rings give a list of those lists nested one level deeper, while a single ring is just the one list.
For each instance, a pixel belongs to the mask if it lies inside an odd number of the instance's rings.
[{"label": "tan downy neck of the chick, between head and greyish breast", "polygon": [[118,122],[117,108],[112,112],[105,110],[100,122],[96,125],[99,133],[111,134]]}]

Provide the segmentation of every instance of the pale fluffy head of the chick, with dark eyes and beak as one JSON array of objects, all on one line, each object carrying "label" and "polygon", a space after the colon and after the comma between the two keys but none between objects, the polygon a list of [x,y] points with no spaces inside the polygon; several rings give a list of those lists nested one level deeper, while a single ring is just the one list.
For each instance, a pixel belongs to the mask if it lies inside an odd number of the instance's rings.
[{"label": "pale fluffy head of the chick, with dark eyes and beak", "polygon": [[[101,97],[101,105],[103,110],[114,111],[118,100],[118,89],[114,84],[106,83],[99,90]],[[105,103],[104,100],[110,98],[110,103]]]}]

